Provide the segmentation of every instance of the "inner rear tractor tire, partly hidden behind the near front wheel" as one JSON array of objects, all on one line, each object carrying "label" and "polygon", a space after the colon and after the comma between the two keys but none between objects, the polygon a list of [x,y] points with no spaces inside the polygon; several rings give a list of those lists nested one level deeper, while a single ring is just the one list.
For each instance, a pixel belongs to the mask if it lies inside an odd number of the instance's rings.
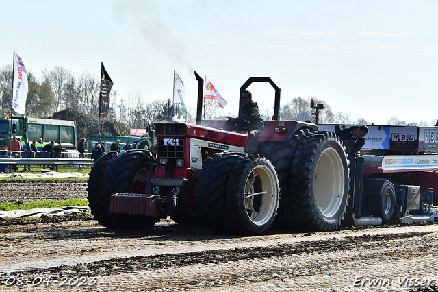
[{"label": "inner rear tractor tire, partly hidden behind the near front wheel", "polygon": [[272,161],[279,178],[280,202],[277,215],[272,223],[273,228],[291,229],[294,226],[292,209],[289,207],[291,204],[288,190],[289,169],[295,145],[308,133],[308,129],[298,130],[289,141],[266,142],[259,147],[259,152]]}]

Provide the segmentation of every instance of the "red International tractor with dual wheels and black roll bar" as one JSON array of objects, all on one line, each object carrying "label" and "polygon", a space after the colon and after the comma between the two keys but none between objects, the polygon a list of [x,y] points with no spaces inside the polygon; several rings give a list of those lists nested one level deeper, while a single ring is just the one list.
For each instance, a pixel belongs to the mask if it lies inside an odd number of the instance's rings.
[{"label": "red International tractor with dual wheels and black roll bar", "polygon": [[[272,224],[337,228],[350,181],[342,141],[311,123],[279,121],[280,89],[268,77],[251,77],[240,92],[252,82],[269,82],[276,90],[274,117],[255,153],[247,153],[247,121],[201,126],[198,102],[196,125],[155,123],[157,154],[135,149],[96,161],[88,180],[96,220],[109,228],[146,229],[170,215],[177,223],[251,235]],[[227,125],[234,130],[222,130]]]}]

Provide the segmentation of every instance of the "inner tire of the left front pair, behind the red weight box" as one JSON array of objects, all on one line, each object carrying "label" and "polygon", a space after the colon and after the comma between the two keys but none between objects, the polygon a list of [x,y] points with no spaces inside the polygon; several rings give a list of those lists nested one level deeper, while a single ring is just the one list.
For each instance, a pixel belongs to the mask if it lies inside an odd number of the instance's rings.
[{"label": "inner tire of the left front pair, behind the red weight box", "polygon": [[[155,155],[147,150],[122,151],[115,155],[103,171],[102,200],[105,201],[104,213],[112,226],[121,229],[148,229],[158,217],[110,214],[110,197],[115,193],[145,193],[146,162],[156,162]],[[108,206],[108,208],[106,208]]]}]

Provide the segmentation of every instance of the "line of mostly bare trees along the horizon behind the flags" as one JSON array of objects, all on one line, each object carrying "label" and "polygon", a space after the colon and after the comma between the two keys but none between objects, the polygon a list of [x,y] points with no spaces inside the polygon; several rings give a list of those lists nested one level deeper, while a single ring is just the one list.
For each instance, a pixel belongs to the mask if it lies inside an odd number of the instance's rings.
[{"label": "line of mostly bare trees along the horizon behind the flags", "polygon": [[[0,97],[1,117],[10,115],[12,98],[12,64],[3,66],[0,69]],[[42,69],[41,78],[28,74],[29,93],[26,101],[26,115],[28,117],[51,117],[54,112],[72,108],[79,110],[92,117],[99,116],[99,73],[83,71],[75,76],[60,66],[52,70]],[[144,101],[142,94],[135,93],[133,96],[120,97],[116,90],[111,92],[110,110],[108,118],[118,123],[125,123],[129,127],[144,128],[155,121],[170,121],[172,119],[172,101],[170,99],[155,99]],[[310,100],[314,99],[315,104],[324,104],[320,111],[319,123],[341,123],[341,124],[369,124],[363,118],[351,120],[348,114],[335,112],[326,102],[315,97],[294,97],[287,101],[280,108],[280,117],[283,120],[298,120],[315,122],[315,116],[310,108]],[[127,102],[129,100],[129,102]],[[273,108],[260,112],[263,120],[272,118]],[[237,112],[227,112],[218,106],[214,99],[206,99],[203,108],[205,119],[224,119],[226,116],[237,116]],[[196,108],[188,108],[188,122],[194,123],[196,119]],[[387,121],[388,125],[407,125],[396,117]],[[429,125],[428,121],[411,122],[409,125]]]}]

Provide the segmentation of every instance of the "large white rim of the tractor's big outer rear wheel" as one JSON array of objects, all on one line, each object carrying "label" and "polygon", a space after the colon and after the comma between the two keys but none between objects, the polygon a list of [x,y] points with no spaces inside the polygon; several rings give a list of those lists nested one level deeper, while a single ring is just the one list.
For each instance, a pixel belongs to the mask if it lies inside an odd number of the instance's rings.
[{"label": "large white rim of the tractor's big outer rear wheel", "polygon": [[325,149],[315,171],[315,197],[320,212],[333,217],[344,199],[345,173],[341,156],[333,148]]}]

